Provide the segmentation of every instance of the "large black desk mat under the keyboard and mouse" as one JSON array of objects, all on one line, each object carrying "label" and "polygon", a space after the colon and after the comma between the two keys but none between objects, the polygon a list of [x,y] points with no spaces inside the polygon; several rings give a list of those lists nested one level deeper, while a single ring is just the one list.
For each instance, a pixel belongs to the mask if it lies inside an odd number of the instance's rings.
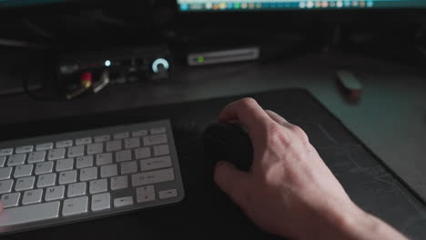
[{"label": "large black desk mat under the keyboard and mouse", "polygon": [[[360,143],[307,91],[278,90],[250,95],[265,109],[301,126],[351,199],[413,239],[426,239],[426,207],[380,159]],[[228,103],[242,96],[152,106],[103,115],[0,127],[2,139],[168,118],[173,125],[186,188],[178,205],[148,209],[72,225],[9,236],[11,239],[274,239],[261,232],[212,184],[212,163],[203,156],[201,133]],[[35,127],[35,125],[37,127]],[[391,151],[391,149],[390,149]],[[404,159],[401,159],[404,161]],[[265,203],[268,204],[268,203]]]}]

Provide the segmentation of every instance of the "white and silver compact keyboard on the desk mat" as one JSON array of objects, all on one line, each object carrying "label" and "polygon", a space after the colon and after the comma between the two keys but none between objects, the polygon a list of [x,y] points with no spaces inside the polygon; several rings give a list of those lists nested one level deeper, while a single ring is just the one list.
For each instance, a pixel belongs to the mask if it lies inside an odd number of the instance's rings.
[{"label": "white and silver compact keyboard on the desk mat", "polygon": [[168,120],[0,143],[0,234],[180,202]]}]

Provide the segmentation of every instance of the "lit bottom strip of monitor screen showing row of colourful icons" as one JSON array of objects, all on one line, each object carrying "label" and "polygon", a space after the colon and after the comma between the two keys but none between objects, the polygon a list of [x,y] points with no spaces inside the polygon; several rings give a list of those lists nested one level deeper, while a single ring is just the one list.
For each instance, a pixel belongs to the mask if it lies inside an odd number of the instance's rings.
[{"label": "lit bottom strip of monitor screen showing row of colourful icons", "polygon": [[425,0],[177,0],[180,11],[267,11],[426,7]]}]

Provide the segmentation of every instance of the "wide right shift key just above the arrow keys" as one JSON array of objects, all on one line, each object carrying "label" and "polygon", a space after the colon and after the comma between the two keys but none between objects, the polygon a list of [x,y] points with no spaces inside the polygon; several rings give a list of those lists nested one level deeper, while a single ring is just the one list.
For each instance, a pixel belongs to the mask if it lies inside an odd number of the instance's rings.
[{"label": "wide right shift key just above the arrow keys", "polygon": [[175,173],[172,168],[132,175],[132,185],[153,185],[162,182],[175,180]]}]

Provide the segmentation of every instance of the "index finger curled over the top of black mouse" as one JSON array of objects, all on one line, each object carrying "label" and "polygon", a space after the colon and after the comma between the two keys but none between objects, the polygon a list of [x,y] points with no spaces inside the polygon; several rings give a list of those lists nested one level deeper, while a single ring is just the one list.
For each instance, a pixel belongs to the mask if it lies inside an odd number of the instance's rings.
[{"label": "index finger curled over the top of black mouse", "polygon": [[272,121],[269,115],[253,98],[243,98],[227,105],[218,117],[219,122],[238,121],[249,130],[250,138],[265,133]]}]

